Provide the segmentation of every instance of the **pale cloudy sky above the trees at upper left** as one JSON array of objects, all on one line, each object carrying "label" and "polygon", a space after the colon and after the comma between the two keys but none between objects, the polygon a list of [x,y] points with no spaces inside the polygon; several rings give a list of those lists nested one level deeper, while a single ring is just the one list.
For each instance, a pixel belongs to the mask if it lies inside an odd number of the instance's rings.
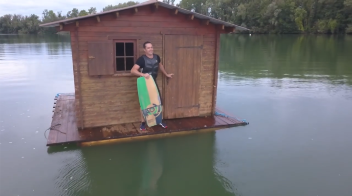
[{"label": "pale cloudy sky above the trees at upper left", "polygon": [[[35,14],[42,18],[44,9],[53,10],[55,13],[62,11],[66,15],[68,11],[77,8],[79,11],[95,7],[97,12],[103,10],[107,5],[116,5],[129,0],[0,0],[0,16],[5,14],[22,14],[23,16]],[[146,0],[134,0],[144,2]],[[175,4],[179,0],[175,0]]]}]

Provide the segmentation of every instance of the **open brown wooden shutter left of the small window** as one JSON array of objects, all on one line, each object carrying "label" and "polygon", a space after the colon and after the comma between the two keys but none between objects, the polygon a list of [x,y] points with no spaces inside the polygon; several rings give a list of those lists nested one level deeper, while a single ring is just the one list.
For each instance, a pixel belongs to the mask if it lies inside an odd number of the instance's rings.
[{"label": "open brown wooden shutter left of the small window", "polygon": [[89,76],[113,75],[113,42],[88,42]]}]

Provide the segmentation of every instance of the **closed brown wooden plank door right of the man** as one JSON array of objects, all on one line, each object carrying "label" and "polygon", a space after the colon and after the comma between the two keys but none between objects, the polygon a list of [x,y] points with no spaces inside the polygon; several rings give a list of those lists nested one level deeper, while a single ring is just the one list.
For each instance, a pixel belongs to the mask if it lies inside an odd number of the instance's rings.
[{"label": "closed brown wooden plank door right of the man", "polygon": [[165,119],[199,116],[202,48],[202,36],[165,35]]}]

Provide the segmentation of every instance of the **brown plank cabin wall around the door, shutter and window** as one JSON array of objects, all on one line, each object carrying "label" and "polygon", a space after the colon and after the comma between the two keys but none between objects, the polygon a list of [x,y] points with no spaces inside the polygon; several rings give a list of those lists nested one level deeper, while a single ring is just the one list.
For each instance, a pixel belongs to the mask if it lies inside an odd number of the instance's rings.
[{"label": "brown plank cabin wall around the door, shutter and window", "polygon": [[[211,23],[189,20],[183,14],[173,15],[169,9],[159,7],[152,12],[149,6],[138,7],[81,20],[65,25],[63,31],[71,32],[72,60],[76,94],[77,125],[81,127],[82,107],[84,127],[140,121],[136,76],[89,76],[88,41],[105,41],[107,36],[138,36],[138,57],[144,54],[143,43],[151,41],[154,54],[163,62],[163,34],[202,34],[202,65],[200,74],[200,116],[210,115],[213,107],[214,70],[216,56],[216,30]],[[78,36],[77,36],[78,34]],[[77,47],[78,46],[78,47]],[[78,52],[77,52],[78,51]],[[137,58],[138,58],[137,57]],[[168,70],[165,67],[166,71]],[[159,71],[157,84],[163,94],[163,74]],[[165,96],[162,96],[163,98]],[[82,105],[80,101],[82,100]]]}]

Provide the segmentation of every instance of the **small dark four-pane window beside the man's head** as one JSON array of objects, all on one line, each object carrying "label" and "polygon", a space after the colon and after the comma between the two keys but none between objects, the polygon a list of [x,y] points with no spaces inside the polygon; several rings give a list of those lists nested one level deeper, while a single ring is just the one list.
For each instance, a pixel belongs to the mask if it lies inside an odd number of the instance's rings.
[{"label": "small dark four-pane window beside the man's head", "polygon": [[135,40],[115,40],[115,72],[131,71],[136,61],[136,41]]}]

